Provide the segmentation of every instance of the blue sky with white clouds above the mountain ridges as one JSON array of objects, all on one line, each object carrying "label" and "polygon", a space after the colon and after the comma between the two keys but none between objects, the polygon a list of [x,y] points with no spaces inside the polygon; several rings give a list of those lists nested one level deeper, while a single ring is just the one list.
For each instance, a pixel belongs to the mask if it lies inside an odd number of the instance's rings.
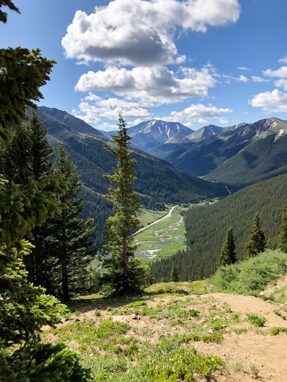
[{"label": "blue sky with white clouds above the mountain ridges", "polygon": [[157,118],[192,129],[287,119],[284,0],[15,5],[21,15],[0,25],[0,46],[39,47],[57,61],[40,105],[105,130],[119,112],[129,126]]}]

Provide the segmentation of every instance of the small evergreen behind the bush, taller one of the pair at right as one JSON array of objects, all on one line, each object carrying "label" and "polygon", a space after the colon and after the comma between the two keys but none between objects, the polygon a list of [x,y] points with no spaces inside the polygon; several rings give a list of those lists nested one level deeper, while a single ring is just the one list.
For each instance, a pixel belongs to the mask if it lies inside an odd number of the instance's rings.
[{"label": "small evergreen behind the bush, taller one of the pair at right", "polygon": [[266,246],[266,238],[264,232],[261,230],[260,217],[258,212],[254,216],[254,225],[249,230],[250,235],[245,244],[245,256],[243,260],[248,260],[250,257],[256,256],[258,253],[264,252]]}]

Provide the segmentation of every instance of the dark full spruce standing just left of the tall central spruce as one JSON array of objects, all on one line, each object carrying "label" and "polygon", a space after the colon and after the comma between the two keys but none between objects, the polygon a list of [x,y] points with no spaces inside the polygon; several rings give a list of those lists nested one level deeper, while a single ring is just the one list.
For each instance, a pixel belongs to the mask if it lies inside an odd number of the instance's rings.
[{"label": "dark full spruce standing just left of the tall central spruce", "polygon": [[62,301],[69,301],[72,296],[88,289],[88,265],[96,254],[95,249],[90,249],[94,241],[89,241],[95,230],[89,228],[94,219],[78,219],[83,199],[78,199],[82,183],[76,170],[60,142],[54,159],[54,172],[56,176],[62,175],[68,183],[68,191],[59,196],[61,204],[67,207],[48,221],[44,237],[38,238],[38,242],[49,255],[43,256],[47,259],[44,285],[49,293]]}]

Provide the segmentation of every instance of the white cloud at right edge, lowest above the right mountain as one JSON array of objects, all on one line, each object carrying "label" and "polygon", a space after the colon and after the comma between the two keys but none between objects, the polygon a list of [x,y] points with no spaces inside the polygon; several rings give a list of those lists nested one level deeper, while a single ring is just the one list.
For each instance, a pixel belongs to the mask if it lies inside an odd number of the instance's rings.
[{"label": "white cloud at right edge, lowest above the right mountain", "polygon": [[253,107],[261,107],[267,113],[287,112],[287,94],[274,89],[272,92],[259,93],[249,103]]}]

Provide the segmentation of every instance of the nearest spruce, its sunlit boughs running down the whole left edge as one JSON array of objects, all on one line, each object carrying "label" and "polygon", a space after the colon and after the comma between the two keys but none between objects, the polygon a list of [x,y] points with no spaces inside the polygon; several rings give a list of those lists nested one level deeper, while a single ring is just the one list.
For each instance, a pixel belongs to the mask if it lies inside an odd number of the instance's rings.
[{"label": "nearest spruce, its sunlit boughs running down the whole left edge", "polygon": [[[0,0],[0,8],[18,11],[10,0]],[[0,21],[7,15],[0,9]],[[41,96],[39,87],[49,79],[51,62],[29,50],[0,50],[0,149],[22,124],[27,105]],[[36,105],[33,105],[36,107]],[[21,125],[22,126],[22,125]],[[22,126],[23,127],[23,126]],[[5,142],[3,142],[5,138]],[[25,154],[24,152],[22,153]],[[2,157],[2,168],[5,160]],[[23,156],[26,162],[26,155]],[[20,163],[20,162],[19,162]],[[6,162],[7,164],[7,162]],[[63,186],[63,185],[62,185]],[[10,382],[87,381],[91,373],[80,366],[77,353],[63,344],[40,344],[42,325],[60,322],[57,313],[66,307],[43,288],[27,283],[23,256],[31,244],[23,240],[32,228],[48,216],[60,212],[55,194],[64,192],[59,181],[47,176],[42,181],[28,177],[15,184],[0,176],[0,379]]]}]

